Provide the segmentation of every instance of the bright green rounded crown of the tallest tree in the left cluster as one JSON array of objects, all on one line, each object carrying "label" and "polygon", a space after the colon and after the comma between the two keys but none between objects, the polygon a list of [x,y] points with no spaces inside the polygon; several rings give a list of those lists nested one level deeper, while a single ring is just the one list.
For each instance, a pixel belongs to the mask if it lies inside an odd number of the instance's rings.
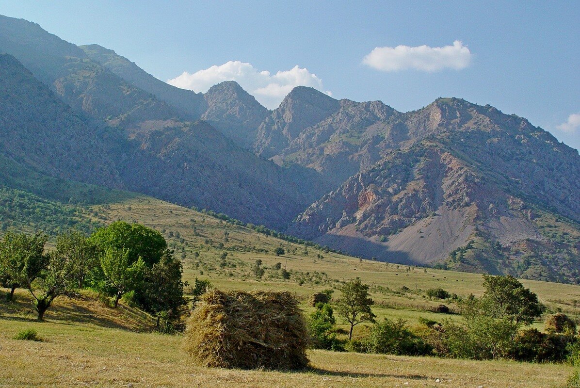
[{"label": "bright green rounded crown of the tallest tree in the left cluster", "polygon": [[129,264],[142,258],[147,267],[158,263],[167,249],[167,242],[158,231],[124,221],[97,229],[89,240],[101,253],[108,248],[126,249]]}]

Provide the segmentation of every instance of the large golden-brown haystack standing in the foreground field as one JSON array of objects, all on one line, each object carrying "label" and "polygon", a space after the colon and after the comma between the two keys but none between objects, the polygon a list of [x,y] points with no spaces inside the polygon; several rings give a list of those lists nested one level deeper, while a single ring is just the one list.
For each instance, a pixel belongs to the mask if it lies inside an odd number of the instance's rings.
[{"label": "large golden-brown haystack standing in the foreground field", "polygon": [[289,292],[212,290],[195,305],[184,345],[206,367],[297,369],[308,364],[308,339]]}]

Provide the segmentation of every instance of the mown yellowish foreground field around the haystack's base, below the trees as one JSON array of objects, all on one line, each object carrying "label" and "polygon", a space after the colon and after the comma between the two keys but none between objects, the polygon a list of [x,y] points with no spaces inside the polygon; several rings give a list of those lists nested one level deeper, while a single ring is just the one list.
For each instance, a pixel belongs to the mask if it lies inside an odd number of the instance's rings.
[{"label": "mown yellowish foreground field around the haystack's base, below the trees", "polygon": [[[45,322],[17,302],[0,304],[0,387],[559,387],[572,368],[511,361],[467,361],[309,352],[311,369],[295,372],[201,368],[182,336],[138,332],[136,312],[58,301]],[[16,304],[16,306],[14,306]],[[96,311],[106,309],[107,311]],[[143,317],[142,317],[143,318]],[[44,342],[12,339],[22,329]],[[440,379],[440,382],[437,382]]]}]

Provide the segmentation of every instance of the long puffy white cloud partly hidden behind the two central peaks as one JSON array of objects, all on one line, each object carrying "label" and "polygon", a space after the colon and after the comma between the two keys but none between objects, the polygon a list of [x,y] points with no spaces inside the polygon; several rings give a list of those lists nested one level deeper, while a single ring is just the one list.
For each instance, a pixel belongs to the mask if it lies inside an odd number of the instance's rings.
[{"label": "long puffy white cloud partly hidden behind the two central peaks", "polygon": [[259,71],[249,63],[229,61],[194,73],[184,71],[182,75],[169,79],[167,83],[177,88],[205,93],[213,85],[223,81],[238,82],[242,88],[269,109],[278,107],[284,97],[299,85],[311,86],[332,96],[331,92],[324,90],[322,79],[298,65],[290,70],[270,74],[266,70]]}]

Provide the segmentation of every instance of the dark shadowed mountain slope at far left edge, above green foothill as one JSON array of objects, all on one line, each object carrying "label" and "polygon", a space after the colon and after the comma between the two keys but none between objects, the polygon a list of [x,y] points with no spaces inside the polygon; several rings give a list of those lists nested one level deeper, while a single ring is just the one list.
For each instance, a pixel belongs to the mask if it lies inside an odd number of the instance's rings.
[{"label": "dark shadowed mountain slope at far left edge, above green foothill", "polygon": [[5,157],[63,179],[122,187],[97,129],[10,55],[0,55],[0,148]]}]

